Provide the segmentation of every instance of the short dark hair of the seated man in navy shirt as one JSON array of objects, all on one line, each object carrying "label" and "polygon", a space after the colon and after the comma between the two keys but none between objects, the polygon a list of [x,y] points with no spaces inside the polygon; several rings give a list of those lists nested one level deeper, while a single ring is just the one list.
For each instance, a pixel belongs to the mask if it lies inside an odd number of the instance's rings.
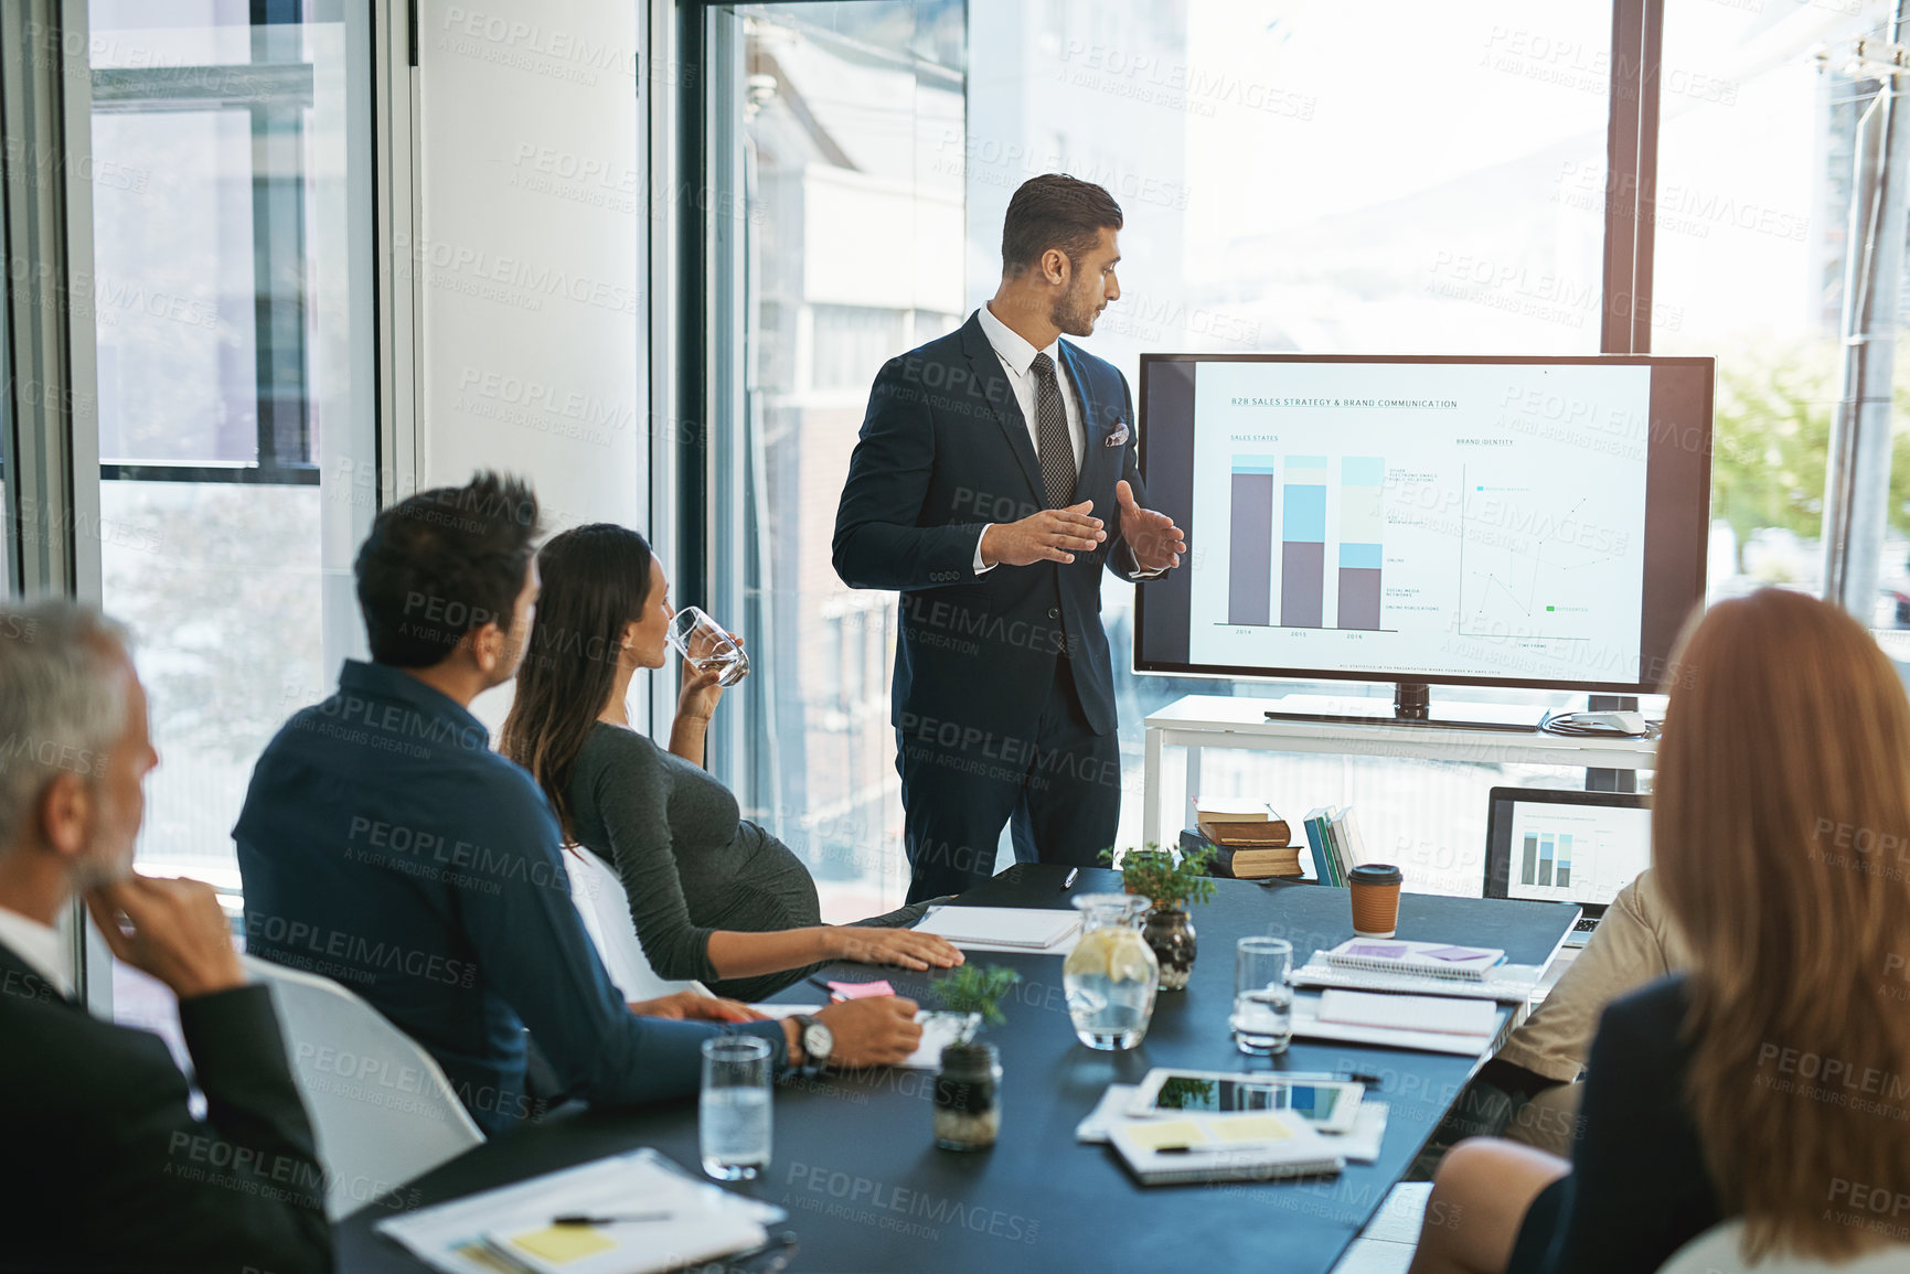
[{"label": "short dark hair of the seated man in navy shirt", "polygon": [[371,657],[430,669],[487,623],[510,632],[535,552],[537,495],[518,478],[485,470],[384,510],[351,567]]}]

